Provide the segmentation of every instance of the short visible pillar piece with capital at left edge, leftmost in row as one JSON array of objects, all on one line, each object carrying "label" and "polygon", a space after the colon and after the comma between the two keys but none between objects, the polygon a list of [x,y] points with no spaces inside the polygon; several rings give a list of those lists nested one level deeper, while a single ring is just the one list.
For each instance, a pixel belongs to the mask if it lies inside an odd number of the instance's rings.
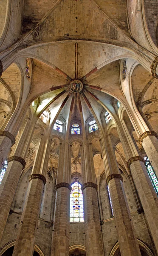
[{"label": "short visible pillar piece with capital at left edge, leftmost in row", "polygon": [[6,160],[10,148],[15,144],[15,137],[8,131],[0,131],[0,169]]}]

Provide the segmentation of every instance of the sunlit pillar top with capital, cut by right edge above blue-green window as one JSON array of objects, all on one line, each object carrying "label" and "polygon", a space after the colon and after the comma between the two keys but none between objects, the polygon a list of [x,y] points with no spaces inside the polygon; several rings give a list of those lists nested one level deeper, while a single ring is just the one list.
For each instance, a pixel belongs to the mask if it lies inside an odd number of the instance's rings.
[{"label": "sunlit pillar top with capital, cut by right edge above blue-green window", "polygon": [[141,134],[139,143],[143,146],[158,177],[158,134],[155,131],[146,131]]}]

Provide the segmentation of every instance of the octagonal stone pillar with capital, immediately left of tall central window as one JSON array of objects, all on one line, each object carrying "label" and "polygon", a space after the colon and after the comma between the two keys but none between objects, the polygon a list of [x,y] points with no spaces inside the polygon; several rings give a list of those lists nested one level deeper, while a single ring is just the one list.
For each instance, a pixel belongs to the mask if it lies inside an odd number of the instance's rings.
[{"label": "octagonal stone pillar with capital, immediately left of tall central window", "polygon": [[56,185],[56,206],[51,256],[69,256],[70,191],[68,183]]}]

